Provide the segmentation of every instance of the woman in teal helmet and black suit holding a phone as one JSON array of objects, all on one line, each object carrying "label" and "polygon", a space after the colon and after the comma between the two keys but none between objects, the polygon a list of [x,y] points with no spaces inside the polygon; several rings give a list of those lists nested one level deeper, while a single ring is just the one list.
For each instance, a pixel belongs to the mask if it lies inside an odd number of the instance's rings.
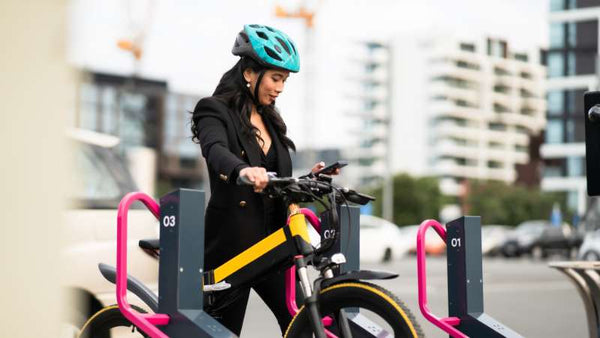
[{"label": "woman in teal helmet and black suit holding a phone", "polygon": [[[232,52],[240,60],[223,75],[213,96],[198,102],[192,117],[194,141],[200,143],[210,177],[206,269],[218,267],[285,224],[283,200],[259,192],[266,187],[267,172],[291,176],[289,149],[296,149],[275,108],[289,73],[300,69],[294,43],[277,29],[245,25]],[[323,167],[321,162],[312,170]],[[254,186],[236,185],[238,176]],[[266,276],[252,288],[275,314],[283,334],[291,320],[283,272]],[[249,292],[219,292],[208,309],[238,336]]]}]

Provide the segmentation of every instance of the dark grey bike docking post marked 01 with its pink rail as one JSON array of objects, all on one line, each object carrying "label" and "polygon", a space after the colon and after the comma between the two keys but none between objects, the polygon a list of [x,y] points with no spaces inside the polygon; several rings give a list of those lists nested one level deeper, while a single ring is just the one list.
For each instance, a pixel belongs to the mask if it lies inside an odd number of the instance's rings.
[{"label": "dark grey bike docking post marked 01 with its pink rail", "polygon": [[[448,314],[439,318],[427,306],[425,234],[433,227],[446,242],[448,266]],[[454,338],[522,337],[484,312],[481,218],[463,216],[446,229],[435,220],[421,223],[417,234],[419,308],[431,323]]]}]

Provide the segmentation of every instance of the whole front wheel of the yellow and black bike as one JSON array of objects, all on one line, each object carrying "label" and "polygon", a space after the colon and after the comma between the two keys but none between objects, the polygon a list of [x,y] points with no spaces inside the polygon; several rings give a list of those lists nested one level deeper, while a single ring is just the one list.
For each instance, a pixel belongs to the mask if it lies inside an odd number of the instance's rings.
[{"label": "whole front wheel of the yellow and black bike", "polygon": [[[331,285],[319,294],[319,310],[332,320],[325,329],[337,337],[423,337],[423,331],[406,305],[388,290],[365,282]],[[292,319],[285,337],[313,337],[309,312],[303,306]],[[348,331],[349,330],[349,331]]]}]

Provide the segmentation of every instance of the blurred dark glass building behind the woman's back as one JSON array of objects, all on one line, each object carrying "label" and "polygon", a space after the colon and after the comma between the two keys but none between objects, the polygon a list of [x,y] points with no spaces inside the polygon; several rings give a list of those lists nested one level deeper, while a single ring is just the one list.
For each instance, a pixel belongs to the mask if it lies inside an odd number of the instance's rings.
[{"label": "blurred dark glass building behind the woman's back", "polygon": [[[142,191],[200,187],[203,162],[191,141],[190,113],[198,96],[173,93],[166,81],[87,71],[75,127],[117,136]],[[161,187],[165,187],[162,189]]]}]

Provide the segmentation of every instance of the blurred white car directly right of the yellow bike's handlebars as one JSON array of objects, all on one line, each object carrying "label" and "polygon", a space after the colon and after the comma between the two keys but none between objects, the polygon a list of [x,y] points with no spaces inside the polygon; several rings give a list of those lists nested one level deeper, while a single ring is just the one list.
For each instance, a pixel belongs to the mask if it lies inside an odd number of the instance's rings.
[{"label": "blurred white car directly right of the yellow bike's handlebars", "polygon": [[408,253],[409,240],[402,236],[397,225],[383,218],[360,215],[361,262],[388,262],[400,258]]}]

